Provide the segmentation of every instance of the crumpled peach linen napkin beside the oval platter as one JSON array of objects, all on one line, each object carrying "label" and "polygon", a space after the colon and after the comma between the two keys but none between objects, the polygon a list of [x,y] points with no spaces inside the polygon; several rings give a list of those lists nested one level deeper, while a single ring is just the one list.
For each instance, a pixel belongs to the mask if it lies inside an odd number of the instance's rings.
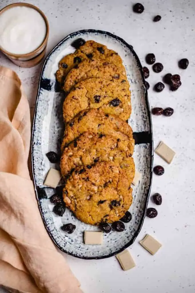
[{"label": "crumpled peach linen napkin beside the oval platter", "polygon": [[27,165],[30,131],[21,81],[0,66],[0,284],[11,292],[81,293],[40,216]]}]

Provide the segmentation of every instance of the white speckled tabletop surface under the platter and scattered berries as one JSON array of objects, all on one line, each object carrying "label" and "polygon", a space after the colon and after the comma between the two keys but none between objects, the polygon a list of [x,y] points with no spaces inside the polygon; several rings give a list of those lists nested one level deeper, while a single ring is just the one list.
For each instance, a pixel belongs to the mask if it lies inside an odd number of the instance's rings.
[{"label": "white speckled tabletop surface under the platter and scattered berries", "polygon": [[[14,1],[0,0],[0,8]],[[165,174],[153,176],[152,192],[163,196],[158,217],[145,219],[142,230],[130,252],[136,267],[122,271],[116,258],[80,260],[65,256],[81,282],[85,293],[191,293],[195,291],[195,1],[145,0],[145,11],[134,14],[132,1],[30,1],[46,14],[50,24],[48,52],[67,34],[95,28],[110,31],[134,46],[145,65],[144,57],[153,52],[164,70],[150,71],[150,106],[170,106],[172,117],[153,117],[154,147],[160,140],[176,151],[168,165],[156,154],[154,165],[162,164]],[[153,23],[156,14],[162,20]],[[179,69],[180,58],[189,59],[187,70]],[[0,54],[0,64],[15,70],[23,81],[33,112],[41,65],[32,69],[15,66]],[[148,66],[149,69],[151,68]],[[161,93],[152,90],[167,73],[181,75],[182,86],[176,92],[166,87]],[[149,200],[150,207],[153,203]],[[149,233],[163,246],[154,256],[145,251],[138,241]],[[3,290],[0,291],[5,292]]]}]

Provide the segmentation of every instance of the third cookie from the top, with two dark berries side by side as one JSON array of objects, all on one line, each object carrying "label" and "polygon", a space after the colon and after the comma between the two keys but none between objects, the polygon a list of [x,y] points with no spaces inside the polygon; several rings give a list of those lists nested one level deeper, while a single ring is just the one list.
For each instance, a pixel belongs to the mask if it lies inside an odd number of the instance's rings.
[{"label": "third cookie from the top, with two dark berries side by side", "polygon": [[131,114],[131,98],[126,81],[89,78],[79,82],[64,100],[64,122],[82,110],[93,108],[127,120]]}]

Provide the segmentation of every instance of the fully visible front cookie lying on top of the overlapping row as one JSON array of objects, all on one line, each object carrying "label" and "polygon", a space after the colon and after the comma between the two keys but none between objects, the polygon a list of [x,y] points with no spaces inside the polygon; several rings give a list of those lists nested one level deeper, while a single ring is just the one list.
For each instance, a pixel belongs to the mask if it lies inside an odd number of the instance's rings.
[{"label": "fully visible front cookie lying on top of the overlapping row", "polygon": [[126,172],[110,162],[74,171],[63,189],[66,207],[87,224],[121,219],[132,203]]}]

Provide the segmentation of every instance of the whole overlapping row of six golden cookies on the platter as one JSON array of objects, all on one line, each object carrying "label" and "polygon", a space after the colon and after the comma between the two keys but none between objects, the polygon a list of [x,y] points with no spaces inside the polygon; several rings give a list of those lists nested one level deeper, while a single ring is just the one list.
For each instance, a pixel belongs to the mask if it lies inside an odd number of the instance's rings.
[{"label": "whole overlapping row of six golden cookies on the platter", "polygon": [[132,203],[134,139],[129,82],[117,52],[77,39],[76,51],[56,73],[66,92],[61,144],[63,198],[81,221],[98,225],[121,219]]}]

